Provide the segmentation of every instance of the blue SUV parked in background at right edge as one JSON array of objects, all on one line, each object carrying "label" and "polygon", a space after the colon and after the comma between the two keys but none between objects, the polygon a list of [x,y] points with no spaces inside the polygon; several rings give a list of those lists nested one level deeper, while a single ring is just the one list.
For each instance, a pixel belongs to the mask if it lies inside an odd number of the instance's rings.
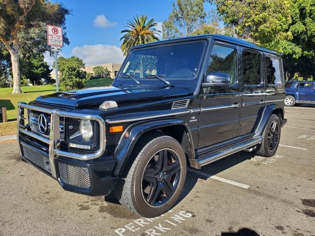
[{"label": "blue SUV parked in background at right edge", "polygon": [[288,81],[285,83],[284,105],[296,103],[315,104],[315,81]]}]

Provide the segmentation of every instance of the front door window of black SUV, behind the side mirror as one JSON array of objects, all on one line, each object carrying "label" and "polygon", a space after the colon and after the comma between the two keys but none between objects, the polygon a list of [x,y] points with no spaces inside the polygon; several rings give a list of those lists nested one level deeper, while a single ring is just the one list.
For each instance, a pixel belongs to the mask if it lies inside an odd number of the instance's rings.
[{"label": "front door window of black SUV, behind the side mirror", "polygon": [[230,80],[230,85],[236,83],[236,49],[215,44],[212,48],[207,74],[222,73]]}]

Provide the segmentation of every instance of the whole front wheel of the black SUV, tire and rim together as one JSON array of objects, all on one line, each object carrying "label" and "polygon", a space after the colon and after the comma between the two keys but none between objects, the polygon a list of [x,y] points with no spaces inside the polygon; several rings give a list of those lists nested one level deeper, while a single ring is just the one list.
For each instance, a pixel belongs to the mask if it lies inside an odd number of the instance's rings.
[{"label": "whole front wheel of the black SUV, tire and rim together", "polygon": [[142,140],[114,193],[128,210],[151,218],[165,213],[177,202],[184,187],[187,163],[183,148],[174,138],[155,136],[149,142]]}]

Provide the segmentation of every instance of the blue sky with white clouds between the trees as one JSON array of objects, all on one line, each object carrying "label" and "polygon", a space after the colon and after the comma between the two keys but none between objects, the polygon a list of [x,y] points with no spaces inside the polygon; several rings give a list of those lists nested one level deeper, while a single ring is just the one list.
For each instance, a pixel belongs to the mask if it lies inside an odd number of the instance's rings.
[{"label": "blue sky with white clouds between the trees", "polygon": [[[100,63],[121,63],[120,51],[122,34],[126,23],[136,15],[148,15],[158,22],[168,18],[173,0],[54,0],[62,2],[72,10],[66,18],[66,32],[70,45],[65,45],[61,56],[72,55],[82,58],[86,65]],[[214,6],[205,3],[205,10]],[[45,55],[52,64],[53,58]]]}]

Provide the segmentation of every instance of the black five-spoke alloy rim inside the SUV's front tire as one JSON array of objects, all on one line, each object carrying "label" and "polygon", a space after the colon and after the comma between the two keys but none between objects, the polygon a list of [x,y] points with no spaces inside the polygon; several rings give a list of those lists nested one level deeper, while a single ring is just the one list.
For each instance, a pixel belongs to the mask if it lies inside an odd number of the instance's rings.
[{"label": "black five-spoke alloy rim inside the SUV's front tire", "polygon": [[181,174],[179,156],[164,148],[149,160],[142,177],[142,196],[151,207],[161,207],[174,195]]}]

